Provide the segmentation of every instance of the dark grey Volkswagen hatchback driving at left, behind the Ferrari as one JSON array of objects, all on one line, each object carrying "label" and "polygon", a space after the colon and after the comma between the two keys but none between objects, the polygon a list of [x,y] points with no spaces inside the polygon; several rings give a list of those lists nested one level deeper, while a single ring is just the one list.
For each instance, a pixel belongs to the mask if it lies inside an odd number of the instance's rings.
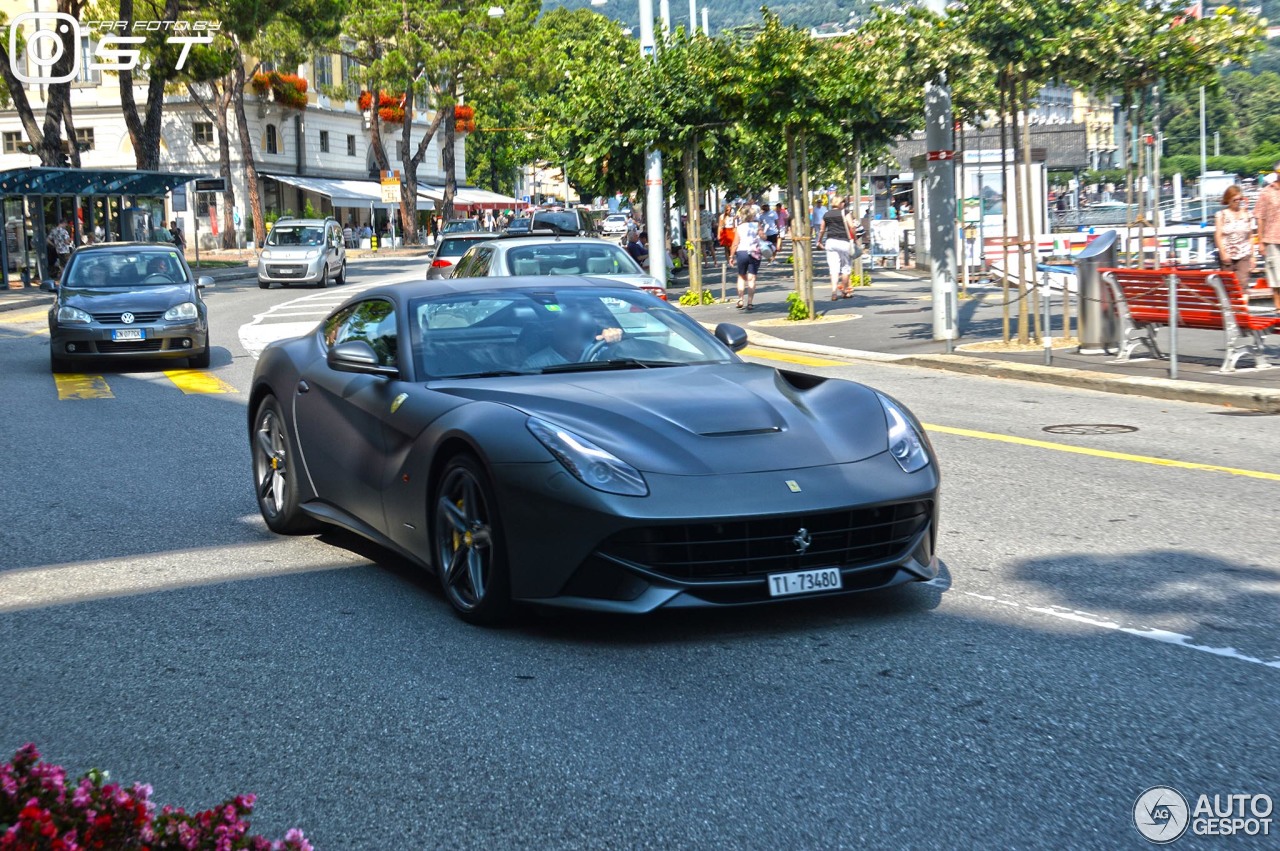
[{"label": "dark grey Volkswagen hatchback driving at left, behind the Ferrari", "polygon": [[196,278],[173,246],[113,242],[72,252],[49,310],[49,358],[68,372],[92,358],[186,358],[206,369],[209,310]]}]

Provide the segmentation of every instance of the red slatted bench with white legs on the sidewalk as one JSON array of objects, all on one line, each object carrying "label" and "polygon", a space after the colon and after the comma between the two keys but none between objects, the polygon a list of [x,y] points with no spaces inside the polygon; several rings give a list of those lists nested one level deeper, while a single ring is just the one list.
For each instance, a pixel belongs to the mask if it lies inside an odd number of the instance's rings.
[{"label": "red slatted bench with white legs on the sidewalk", "polygon": [[1262,346],[1265,331],[1280,331],[1280,316],[1249,312],[1249,301],[1235,273],[1189,271],[1175,269],[1103,269],[1102,280],[1111,289],[1123,324],[1119,361],[1128,361],[1134,349],[1146,346],[1155,357],[1164,357],[1156,331],[1167,328],[1170,278],[1178,285],[1178,326],[1220,330],[1226,335],[1226,356],[1221,372],[1234,372],[1242,357],[1252,357],[1257,369],[1267,369]]}]

